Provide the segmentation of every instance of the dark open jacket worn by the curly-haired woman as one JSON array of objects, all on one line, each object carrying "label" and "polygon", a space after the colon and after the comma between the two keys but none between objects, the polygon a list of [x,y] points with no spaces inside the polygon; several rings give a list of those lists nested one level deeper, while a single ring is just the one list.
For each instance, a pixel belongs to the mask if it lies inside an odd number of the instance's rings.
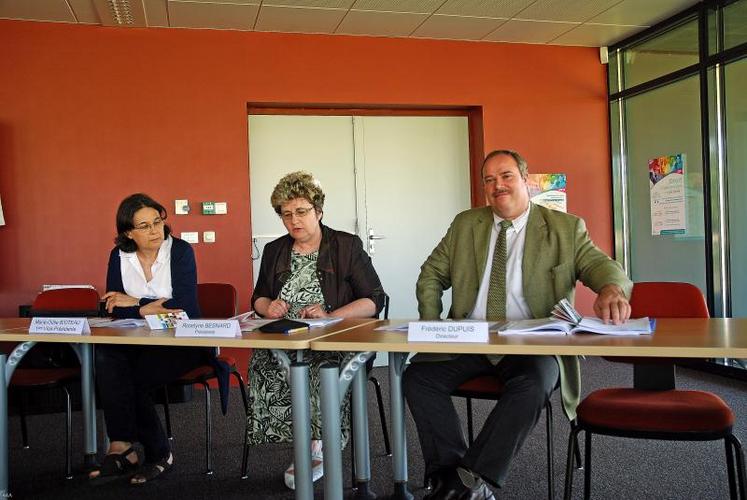
[{"label": "dark open jacket worn by the curly-haired woman", "polygon": [[[320,225],[322,242],[316,272],[324,295],[325,310],[331,312],[354,300],[367,298],[376,304],[378,315],[384,308],[386,294],[360,238]],[[283,284],[290,277],[292,248],[293,238],[290,235],[265,246],[252,295],[252,307],[260,297],[272,300],[278,297]]]}]

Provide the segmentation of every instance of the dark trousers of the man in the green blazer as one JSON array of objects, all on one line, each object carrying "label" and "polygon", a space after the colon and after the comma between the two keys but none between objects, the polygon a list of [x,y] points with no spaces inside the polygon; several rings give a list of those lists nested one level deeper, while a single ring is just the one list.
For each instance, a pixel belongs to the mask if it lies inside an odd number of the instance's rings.
[{"label": "dark trousers of the man in the green blazer", "polygon": [[[426,474],[462,466],[502,486],[511,459],[537,423],[559,374],[552,356],[504,356],[493,365],[485,356],[465,354],[411,363],[404,373],[404,393],[418,429]],[[451,393],[481,375],[498,376],[506,391],[467,447]]]}]

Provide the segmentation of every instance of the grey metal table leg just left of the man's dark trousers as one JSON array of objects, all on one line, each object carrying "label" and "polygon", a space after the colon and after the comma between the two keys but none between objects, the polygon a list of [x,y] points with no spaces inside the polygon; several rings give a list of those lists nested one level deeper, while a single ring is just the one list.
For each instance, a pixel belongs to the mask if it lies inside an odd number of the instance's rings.
[{"label": "grey metal table leg just left of the man's dark trousers", "polygon": [[411,499],[407,489],[407,441],[405,436],[405,396],[402,392],[402,373],[407,354],[389,353],[389,395],[392,416],[392,467],[394,476],[393,498]]}]

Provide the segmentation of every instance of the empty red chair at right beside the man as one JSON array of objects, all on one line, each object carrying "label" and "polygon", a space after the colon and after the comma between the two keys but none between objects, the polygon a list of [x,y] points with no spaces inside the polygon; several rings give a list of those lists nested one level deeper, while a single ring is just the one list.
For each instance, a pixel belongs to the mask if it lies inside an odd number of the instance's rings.
[{"label": "empty red chair at right beside the man", "polygon": [[[630,304],[633,317],[709,317],[703,294],[689,283],[636,283]],[[711,392],[675,389],[674,359],[622,358],[622,361],[634,363],[634,387],[594,391],[578,407],[569,441],[565,498],[571,498],[573,487],[570,443],[581,431],[586,431],[584,498],[591,494],[592,434],[669,441],[723,439],[730,496],[736,499],[739,489],[739,495],[745,498],[744,454],[732,433],[731,408]],[[738,484],[734,476],[735,453]]]}]

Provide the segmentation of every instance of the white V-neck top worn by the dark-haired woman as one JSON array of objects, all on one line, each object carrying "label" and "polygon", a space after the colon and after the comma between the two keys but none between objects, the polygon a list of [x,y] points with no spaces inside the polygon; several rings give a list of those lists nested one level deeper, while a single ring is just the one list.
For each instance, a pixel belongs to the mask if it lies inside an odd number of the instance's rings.
[{"label": "white V-neck top worn by the dark-haired woman", "polygon": [[138,299],[170,299],[171,288],[171,236],[163,240],[156,261],[150,268],[151,280],[145,279],[137,252],[119,251],[122,285],[125,293]]}]

